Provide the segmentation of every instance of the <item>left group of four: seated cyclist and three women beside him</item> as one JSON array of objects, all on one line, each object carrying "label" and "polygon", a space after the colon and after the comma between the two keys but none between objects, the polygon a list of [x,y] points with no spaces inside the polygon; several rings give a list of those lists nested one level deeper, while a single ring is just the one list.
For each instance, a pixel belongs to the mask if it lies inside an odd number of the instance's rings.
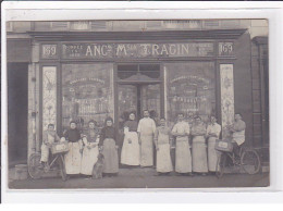
[{"label": "left group of four: seated cyclist and three women beside him", "polygon": [[[70,122],[70,128],[60,138],[54,125],[49,124],[44,133],[41,145],[41,163],[48,165],[50,147],[56,141],[67,141],[69,151],[64,156],[67,175],[93,175],[93,169],[99,153],[103,154],[104,175],[114,176],[119,172],[116,129],[111,117],[106,119],[104,127],[99,131],[95,121],[89,121],[88,128],[81,132],[75,121]],[[44,166],[42,166],[44,167]]]}]

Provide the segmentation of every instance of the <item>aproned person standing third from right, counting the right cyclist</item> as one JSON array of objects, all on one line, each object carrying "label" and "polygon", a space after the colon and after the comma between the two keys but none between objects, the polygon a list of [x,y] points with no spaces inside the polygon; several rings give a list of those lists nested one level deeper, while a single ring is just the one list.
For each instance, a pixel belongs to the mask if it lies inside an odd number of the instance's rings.
[{"label": "aproned person standing third from right, counting the right cyclist", "polygon": [[207,146],[206,146],[206,125],[201,122],[200,116],[195,117],[192,126],[193,136],[193,172],[206,175],[207,165]]}]

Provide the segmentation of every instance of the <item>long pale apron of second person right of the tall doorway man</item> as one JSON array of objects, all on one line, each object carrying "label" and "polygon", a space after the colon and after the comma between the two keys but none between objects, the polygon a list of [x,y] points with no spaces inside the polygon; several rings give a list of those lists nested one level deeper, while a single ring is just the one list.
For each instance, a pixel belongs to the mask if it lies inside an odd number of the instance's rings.
[{"label": "long pale apron of second person right of the tall doorway man", "polygon": [[176,137],[175,172],[192,172],[192,154],[188,145],[188,137]]}]

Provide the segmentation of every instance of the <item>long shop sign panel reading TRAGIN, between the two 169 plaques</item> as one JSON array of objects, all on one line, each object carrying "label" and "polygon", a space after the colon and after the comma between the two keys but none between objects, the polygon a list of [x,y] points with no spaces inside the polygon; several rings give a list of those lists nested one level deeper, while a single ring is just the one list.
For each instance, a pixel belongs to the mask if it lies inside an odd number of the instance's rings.
[{"label": "long shop sign panel reading TRAGIN, between the two 169 plaques", "polygon": [[63,44],[62,59],[211,57],[213,42]]}]

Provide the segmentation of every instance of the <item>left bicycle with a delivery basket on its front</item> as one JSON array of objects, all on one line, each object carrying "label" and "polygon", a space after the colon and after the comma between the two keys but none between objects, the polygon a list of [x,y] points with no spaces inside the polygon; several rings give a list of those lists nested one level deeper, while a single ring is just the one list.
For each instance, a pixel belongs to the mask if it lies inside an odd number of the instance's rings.
[{"label": "left bicycle with a delivery basket on its front", "polygon": [[44,173],[48,173],[50,171],[56,171],[54,167],[56,162],[59,165],[59,171],[62,176],[62,181],[66,181],[66,172],[65,172],[65,161],[64,154],[69,151],[69,146],[66,141],[63,142],[54,142],[51,145],[51,154],[52,159],[51,162],[48,161],[46,167],[42,167],[40,163],[41,154],[39,152],[35,152],[30,154],[28,159],[28,174],[32,178],[38,179],[41,178]]}]

